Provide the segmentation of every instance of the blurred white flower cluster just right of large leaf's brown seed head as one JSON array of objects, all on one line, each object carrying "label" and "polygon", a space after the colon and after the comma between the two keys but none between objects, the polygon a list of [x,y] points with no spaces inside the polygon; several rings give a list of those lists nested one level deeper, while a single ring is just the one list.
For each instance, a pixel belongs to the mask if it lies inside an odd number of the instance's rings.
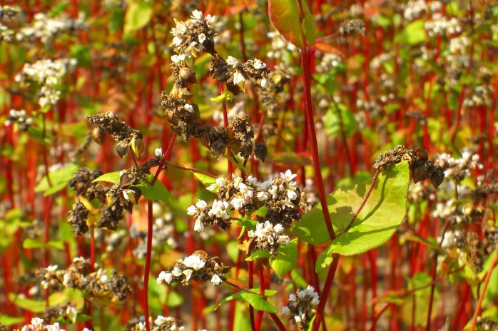
[{"label": "blurred white flower cluster just right of large leaf's brown seed head", "polygon": [[457,182],[470,175],[470,170],[482,169],[479,155],[469,151],[462,152],[462,158],[453,158],[447,153],[442,153],[436,161],[444,168],[444,176]]}]

